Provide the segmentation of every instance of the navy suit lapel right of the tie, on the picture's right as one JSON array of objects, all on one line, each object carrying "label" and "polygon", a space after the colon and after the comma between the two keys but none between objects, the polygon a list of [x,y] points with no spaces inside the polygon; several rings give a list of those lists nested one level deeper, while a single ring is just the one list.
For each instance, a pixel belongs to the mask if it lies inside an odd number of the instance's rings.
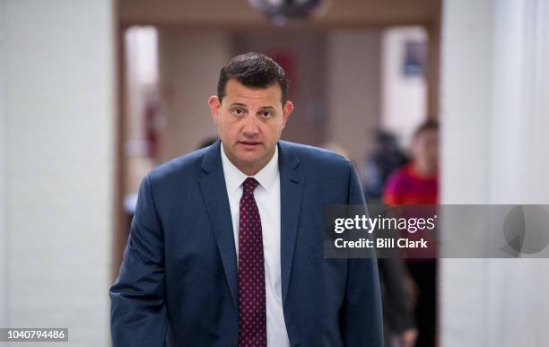
[{"label": "navy suit lapel right of the tie, on the picture's right", "polygon": [[305,178],[298,170],[300,160],[288,143],[279,142],[281,200],[281,276],[283,303],[286,301],[292,274],[295,239],[300,221]]}]

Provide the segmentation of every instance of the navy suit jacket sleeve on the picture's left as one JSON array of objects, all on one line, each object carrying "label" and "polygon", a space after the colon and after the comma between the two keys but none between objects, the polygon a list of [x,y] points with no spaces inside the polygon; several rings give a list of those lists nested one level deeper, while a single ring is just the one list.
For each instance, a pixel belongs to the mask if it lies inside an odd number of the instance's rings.
[{"label": "navy suit jacket sleeve on the picture's left", "polygon": [[113,347],[164,346],[164,286],[164,240],[147,176],[139,188],[120,273],[109,291]]}]

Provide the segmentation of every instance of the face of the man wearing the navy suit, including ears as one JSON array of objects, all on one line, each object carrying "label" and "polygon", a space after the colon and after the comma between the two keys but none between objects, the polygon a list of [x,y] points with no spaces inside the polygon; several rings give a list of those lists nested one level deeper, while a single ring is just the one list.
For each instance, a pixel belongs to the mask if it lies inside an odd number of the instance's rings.
[{"label": "face of the man wearing the navy suit, including ears", "polygon": [[227,157],[240,171],[255,175],[273,157],[292,102],[282,104],[278,83],[252,89],[231,79],[222,101],[212,96],[208,103]]}]

